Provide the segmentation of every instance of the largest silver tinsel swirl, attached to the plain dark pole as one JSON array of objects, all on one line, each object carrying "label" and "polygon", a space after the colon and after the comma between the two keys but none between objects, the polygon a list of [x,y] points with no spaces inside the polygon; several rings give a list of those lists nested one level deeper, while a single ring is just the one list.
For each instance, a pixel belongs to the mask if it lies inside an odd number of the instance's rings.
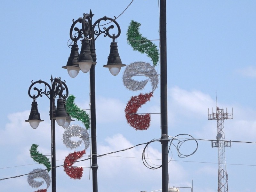
[{"label": "largest silver tinsel swirl, attached to the plain dark pole", "polygon": [[[148,79],[143,81],[133,80],[132,77],[136,75],[144,75]],[[150,63],[137,61],[128,65],[124,70],[123,83],[124,86],[131,91],[138,91],[145,87],[148,80],[152,85],[152,92],[155,91],[158,84],[158,74],[155,68]]]}]

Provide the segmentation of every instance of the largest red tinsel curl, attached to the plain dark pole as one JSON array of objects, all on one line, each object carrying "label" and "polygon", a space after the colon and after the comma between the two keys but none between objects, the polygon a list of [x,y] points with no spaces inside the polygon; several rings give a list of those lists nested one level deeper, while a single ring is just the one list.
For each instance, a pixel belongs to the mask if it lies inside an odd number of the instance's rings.
[{"label": "largest red tinsel curl, attached to the plain dark pole", "polygon": [[153,92],[146,94],[140,93],[138,96],[132,96],[126,105],[125,117],[127,123],[136,130],[147,130],[150,126],[150,114],[138,115],[133,113],[137,113],[141,105],[149,101],[151,97],[153,97]]}]

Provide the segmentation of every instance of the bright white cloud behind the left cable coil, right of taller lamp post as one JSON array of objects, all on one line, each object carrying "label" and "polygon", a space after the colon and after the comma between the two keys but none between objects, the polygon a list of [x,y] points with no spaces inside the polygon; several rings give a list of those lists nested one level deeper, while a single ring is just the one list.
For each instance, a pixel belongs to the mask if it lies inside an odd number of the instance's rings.
[{"label": "bright white cloud behind the left cable coil, right of taller lamp post", "polygon": [[[116,134],[106,139],[106,145],[98,146],[98,153],[102,154],[118,151],[131,146],[133,146],[133,144],[124,138],[122,134]],[[161,184],[161,168],[151,170],[144,166],[141,159],[144,147],[144,145],[138,146],[123,152],[101,157],[98,160],[98,164],[102,177],[106,176],[108,179],[119,178],[120,180],[126,180],[128,183],[133,182],[134,186],[140,183],[141,186],[145,186],[144,188],[140,188],[140,190],[151,191],[161,188],[161,185],[158,186]],[[147,156],[151,159],[147,160],[151,166],[161,165],[161,151],[149,145],[146,153],[146,157]],[[172,184],[180,182],[180,180],[184,179],[187,175],[185,170],[175,161],[169,163],[169,170],[172,173],[170,174]],[[148,187],[146,187],[147,185]],[[155,186],[155,188],[153,186]]]}]

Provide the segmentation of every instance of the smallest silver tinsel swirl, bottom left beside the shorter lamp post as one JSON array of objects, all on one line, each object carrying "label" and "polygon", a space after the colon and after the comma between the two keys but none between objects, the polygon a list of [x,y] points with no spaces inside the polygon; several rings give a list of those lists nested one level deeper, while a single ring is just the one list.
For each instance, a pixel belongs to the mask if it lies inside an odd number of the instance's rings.
[{"label": "smallest silver tinsel swirl, bottom left beside the shorter lamp post", "polygon": [[[44,180],[36,181],[36,180],[34,180],[35,178],[42,178]],[[34,169],[28,175],[28,184],[33,188],[40,187],[41,185],[44,184],[44,181],[46,182],[46,185],[48,188],[51,184],[51,178],[50,178],[50,175],[48,174],[47,170],[43,171],[43,169]]]}]

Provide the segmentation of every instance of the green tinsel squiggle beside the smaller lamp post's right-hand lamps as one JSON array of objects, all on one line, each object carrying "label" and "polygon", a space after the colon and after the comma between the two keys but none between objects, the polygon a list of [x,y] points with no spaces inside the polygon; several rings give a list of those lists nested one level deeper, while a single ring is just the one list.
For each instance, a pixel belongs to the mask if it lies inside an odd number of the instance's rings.
[{"label": "green tinsel squiggle beside the smaller lamp post's right-hand lamps", "polygon": [[82,121],[85,128],[88,130],[90,129],[90,118],[89,115],[83,110],[80,109],[75,103],[75,96],[74,95],[69,95],[66,103],[66,110],[67,113],[71,117],[76,118],[78,121]]}]

